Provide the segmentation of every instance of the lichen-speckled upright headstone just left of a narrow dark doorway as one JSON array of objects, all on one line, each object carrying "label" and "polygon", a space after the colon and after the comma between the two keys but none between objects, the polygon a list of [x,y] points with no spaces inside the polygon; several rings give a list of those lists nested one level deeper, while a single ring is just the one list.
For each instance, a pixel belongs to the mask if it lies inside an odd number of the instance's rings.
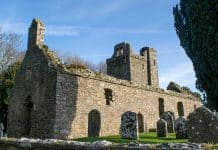
[{"label": "lichen-speckled upright headstone just left of a narrow dark doorway", "polygon": [[137,114],[127,111],[121,116],[121,137],[124,139],[138,139]]}]

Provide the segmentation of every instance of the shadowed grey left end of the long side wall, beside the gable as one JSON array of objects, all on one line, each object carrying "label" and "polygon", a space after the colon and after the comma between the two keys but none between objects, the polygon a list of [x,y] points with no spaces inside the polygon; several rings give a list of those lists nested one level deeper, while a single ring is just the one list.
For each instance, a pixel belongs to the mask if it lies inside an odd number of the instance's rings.
[{"label": "shadowed grey left end of the long side wall, beside the gable", "polygon": [[[71,131],[77,112],[78,78],[58,71],[56,86],[56,120],[54,125],[55,138],[63,138]],[[80,116],[79,116],[80,117]],[[81,126],[81,130],[82,130]],[[66,133],[65,133],[66,134]]]}]

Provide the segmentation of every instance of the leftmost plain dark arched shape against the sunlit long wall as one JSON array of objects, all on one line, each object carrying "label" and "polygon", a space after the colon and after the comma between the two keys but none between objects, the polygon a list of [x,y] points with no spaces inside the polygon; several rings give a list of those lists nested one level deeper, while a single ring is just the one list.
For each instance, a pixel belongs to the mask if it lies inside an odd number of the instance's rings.
[{"label": "leftmost plain dark arched shape against the sunlit long wall", "polygon": [[101,114],[98,110],[93,109],[88,116],[88,136],[96,137],[100,135]]}]

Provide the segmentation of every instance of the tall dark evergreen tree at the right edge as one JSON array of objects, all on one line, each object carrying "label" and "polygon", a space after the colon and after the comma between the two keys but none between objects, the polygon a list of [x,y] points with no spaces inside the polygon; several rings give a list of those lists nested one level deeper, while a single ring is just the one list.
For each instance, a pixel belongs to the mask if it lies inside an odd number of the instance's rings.
[{"label": "tall dark evergreen tree at the right edge", "polygon": [[218,111],[218,0],[180,0],[173,8],[181,46],[191,59],[196,87]]}]

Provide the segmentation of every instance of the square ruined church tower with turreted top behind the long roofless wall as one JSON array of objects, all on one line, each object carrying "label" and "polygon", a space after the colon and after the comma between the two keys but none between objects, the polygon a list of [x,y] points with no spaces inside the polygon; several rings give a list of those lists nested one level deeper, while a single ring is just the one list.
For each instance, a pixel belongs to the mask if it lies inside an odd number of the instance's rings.
[{"label": "square ruined church tower with turreted top behind the long roofless wall", "polygon": [[140,55],[133,52],[130,44],[119,43],[114,54],[107,59],[107,74],[118,79],[159,87],[156,51],[143,47]]}]

